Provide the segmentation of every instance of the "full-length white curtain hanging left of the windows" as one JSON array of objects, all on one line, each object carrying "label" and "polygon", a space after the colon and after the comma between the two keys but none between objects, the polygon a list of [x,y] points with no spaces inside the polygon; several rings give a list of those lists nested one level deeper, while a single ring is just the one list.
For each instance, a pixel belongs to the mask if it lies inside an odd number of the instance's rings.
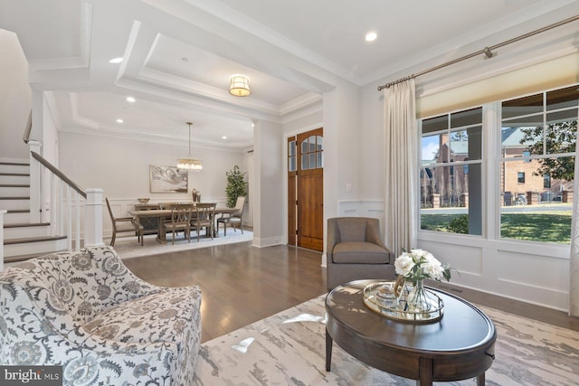
[{"label": "full-length white curtain hanging left of the windows", "polygon": [[418,133],[414,80],[384,91],[384,243],[394,255],[416,247]]}]

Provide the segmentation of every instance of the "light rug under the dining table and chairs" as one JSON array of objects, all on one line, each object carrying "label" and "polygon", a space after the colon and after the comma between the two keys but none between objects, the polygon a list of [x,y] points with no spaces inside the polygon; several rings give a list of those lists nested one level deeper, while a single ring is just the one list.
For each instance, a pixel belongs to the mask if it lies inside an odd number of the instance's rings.
[{"label": "light rug under the dining table and chairs", "polygon": [[220,230],[218,237],[213,240],[210,237],[201,237],[197,241],[196,234],[192,233],[191,242],[187,242],[183,237],[183,233],[176,236],[175,245],[171,242],[171,234],[167,234],[166,244],[157,242],[157,235],[146,235],[143,246],[138,243],[135,236],[118,238],[115,241],[114,249],[119,254],[121,259],[138,258],[141,256],[158,255],[162,253],[177,252],[181,250],[199,249],[214,247],[216,245],[233,244],[236,242],[253,240],[253,232],[245,231],[243,233],[239,230],[233,231],[231,228],[227,230],[227,236],[223,235],[223,229]]}]

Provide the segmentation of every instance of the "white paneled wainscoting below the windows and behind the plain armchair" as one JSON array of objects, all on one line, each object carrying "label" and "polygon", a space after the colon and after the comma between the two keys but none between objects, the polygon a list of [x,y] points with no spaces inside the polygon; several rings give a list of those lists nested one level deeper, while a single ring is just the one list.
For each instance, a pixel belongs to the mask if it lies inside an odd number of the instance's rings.
[{"label": "white paneled wainscoting below the windows and behind the plain armchair", "polygon": [[[340,201],[339,217],[372,217],[384,230],[381,201]],[[451,282],[501,297],[562,311],[569,308],[569,246],[418,232],[426,249],[460,271]]]}]

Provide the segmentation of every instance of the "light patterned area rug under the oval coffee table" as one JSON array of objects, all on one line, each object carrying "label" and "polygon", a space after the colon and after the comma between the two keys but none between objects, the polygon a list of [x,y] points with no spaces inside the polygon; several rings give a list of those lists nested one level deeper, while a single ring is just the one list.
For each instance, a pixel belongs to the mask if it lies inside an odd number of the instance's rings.
[{"label": "light patterned area rug under the oval coffee table", "polygon": [[[195,385],[416,385],[357,361],[334,344],[326,372],[325,295],[202,344]],[[497,328],[487,385],[578,385],[579,333],[489,307]],[[475,385],[474,379],[435,382]]]}]

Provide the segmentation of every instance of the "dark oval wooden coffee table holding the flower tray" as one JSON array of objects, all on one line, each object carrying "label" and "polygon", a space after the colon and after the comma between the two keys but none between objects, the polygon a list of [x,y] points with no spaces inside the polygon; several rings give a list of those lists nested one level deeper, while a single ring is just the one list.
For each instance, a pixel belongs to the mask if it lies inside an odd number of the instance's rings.
[{"label": "dark oval wooden coffee table holding the flower tray", "polygon": [[494,360],[495,325],[476,306],[429,288],[444,301],[444,315],[432,324],[400,322],[378,315],[364,304],[365,286],[378,280],[356,280],[334,288],[326,297],[326,370],[332,342],[346,353],[384,372],[417,380],[460,381],[477,377]]}]

